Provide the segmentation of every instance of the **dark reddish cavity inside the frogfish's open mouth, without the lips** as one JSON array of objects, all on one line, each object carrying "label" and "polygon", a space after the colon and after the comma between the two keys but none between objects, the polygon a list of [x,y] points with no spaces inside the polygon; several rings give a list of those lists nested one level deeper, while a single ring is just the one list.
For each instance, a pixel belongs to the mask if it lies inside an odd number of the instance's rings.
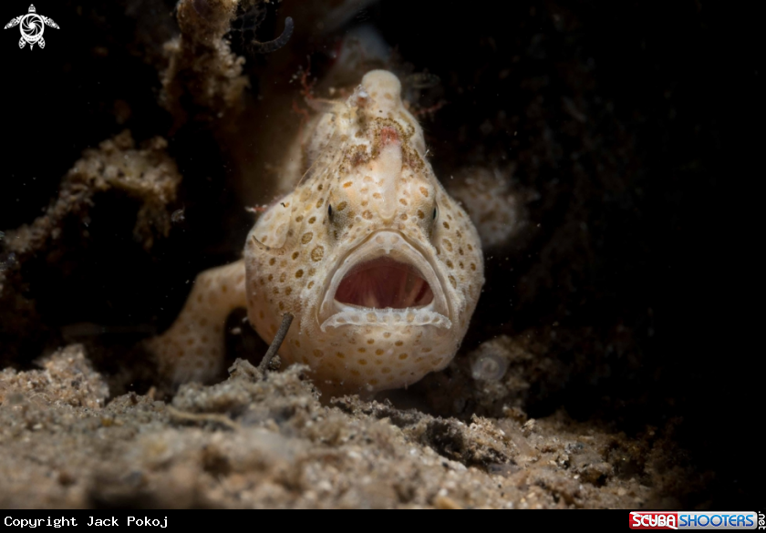
[{"label": "dark reddish cavity inside the frogfish's open mouth, without the lips", "polygon": [[406,309],[433,302],[433,291],[416,268],[380,257],[351,269],[340,282],[335,299],[374,309]]}]

